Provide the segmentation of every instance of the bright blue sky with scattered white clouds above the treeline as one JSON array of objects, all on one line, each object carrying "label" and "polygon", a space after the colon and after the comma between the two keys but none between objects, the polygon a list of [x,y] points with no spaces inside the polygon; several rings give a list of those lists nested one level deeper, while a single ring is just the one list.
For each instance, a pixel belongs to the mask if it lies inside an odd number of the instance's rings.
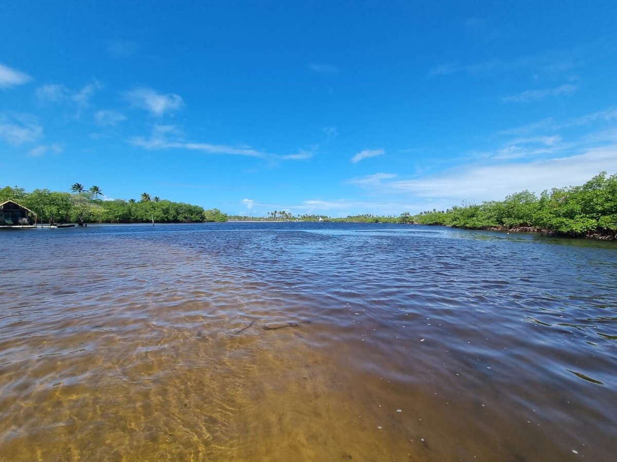
[{"label": "bright blue sky with scattered white clouds above the treeline", "polygon": [[617,172],[615,1],[14,1],[0,186],[417,213]]}]

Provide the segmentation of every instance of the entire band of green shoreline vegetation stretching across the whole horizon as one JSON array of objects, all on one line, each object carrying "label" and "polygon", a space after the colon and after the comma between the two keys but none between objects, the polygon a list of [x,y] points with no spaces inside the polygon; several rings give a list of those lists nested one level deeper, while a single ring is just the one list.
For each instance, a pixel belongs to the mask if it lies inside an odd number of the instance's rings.
[{"label": "entire band of green shoreline vegetation stretching across the whole horizon", "polygon": [[271,211],[267,217],[228,216],[218,209],[207,209],[173,202],[142,193],[139,200],[102,200],[100,187],[88,189],[80,183],[71,193],[20,187],[0,188],[0,203],[13,200],[36,214],[39,223],[179,223],[234,221],[325,221],[358,223],[415,223],[468,229],[542,232],[570,237],[617,239],[617,174],[600,172],[582,186],[545,190],[538,197],[524,190],[502,201],[480,205],[463,204],[445,211],[408,212],[400,216],[358,214],[333,218],[326,215],[293,215]]}]

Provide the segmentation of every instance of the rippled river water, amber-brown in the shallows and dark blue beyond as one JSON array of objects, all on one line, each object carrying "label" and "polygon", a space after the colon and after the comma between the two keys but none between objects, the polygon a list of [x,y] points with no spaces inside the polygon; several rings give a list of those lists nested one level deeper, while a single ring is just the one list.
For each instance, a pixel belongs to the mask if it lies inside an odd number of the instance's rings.
[{"label": "rippled river water, amber-brown in the shallows and dark blue beyond", "polygon": [[615,460],[614,243],[292,222],[0,245],[0,460]]}]

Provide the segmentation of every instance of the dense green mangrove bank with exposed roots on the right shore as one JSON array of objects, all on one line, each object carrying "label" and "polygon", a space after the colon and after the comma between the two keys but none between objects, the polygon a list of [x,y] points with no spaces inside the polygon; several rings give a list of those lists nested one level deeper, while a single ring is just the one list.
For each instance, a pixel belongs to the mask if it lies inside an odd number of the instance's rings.
[{"label": "dense green mangrove bank with exposed roots on the right shore", "polygon": [[525,190],[503,201],[426,211],[413,220],[424,225],[617,239],[617,174],[601,172],[582,186],[553,188],[540,197]]}]

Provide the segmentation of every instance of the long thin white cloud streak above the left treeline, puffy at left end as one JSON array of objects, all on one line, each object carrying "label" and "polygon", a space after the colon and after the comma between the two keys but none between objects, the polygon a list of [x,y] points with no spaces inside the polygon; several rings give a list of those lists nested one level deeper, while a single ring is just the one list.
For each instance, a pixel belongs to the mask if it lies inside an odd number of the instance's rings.
[{"label": "long thin white cloud streak above the left treeline, puffy at left end", "polygon": [[133,137],[129,142],[148,150],[184,149],[209,154],[265,157],[266,153],[245,146],[186,142],[183,132],[173,125],[155,125],[149,138]]}]

